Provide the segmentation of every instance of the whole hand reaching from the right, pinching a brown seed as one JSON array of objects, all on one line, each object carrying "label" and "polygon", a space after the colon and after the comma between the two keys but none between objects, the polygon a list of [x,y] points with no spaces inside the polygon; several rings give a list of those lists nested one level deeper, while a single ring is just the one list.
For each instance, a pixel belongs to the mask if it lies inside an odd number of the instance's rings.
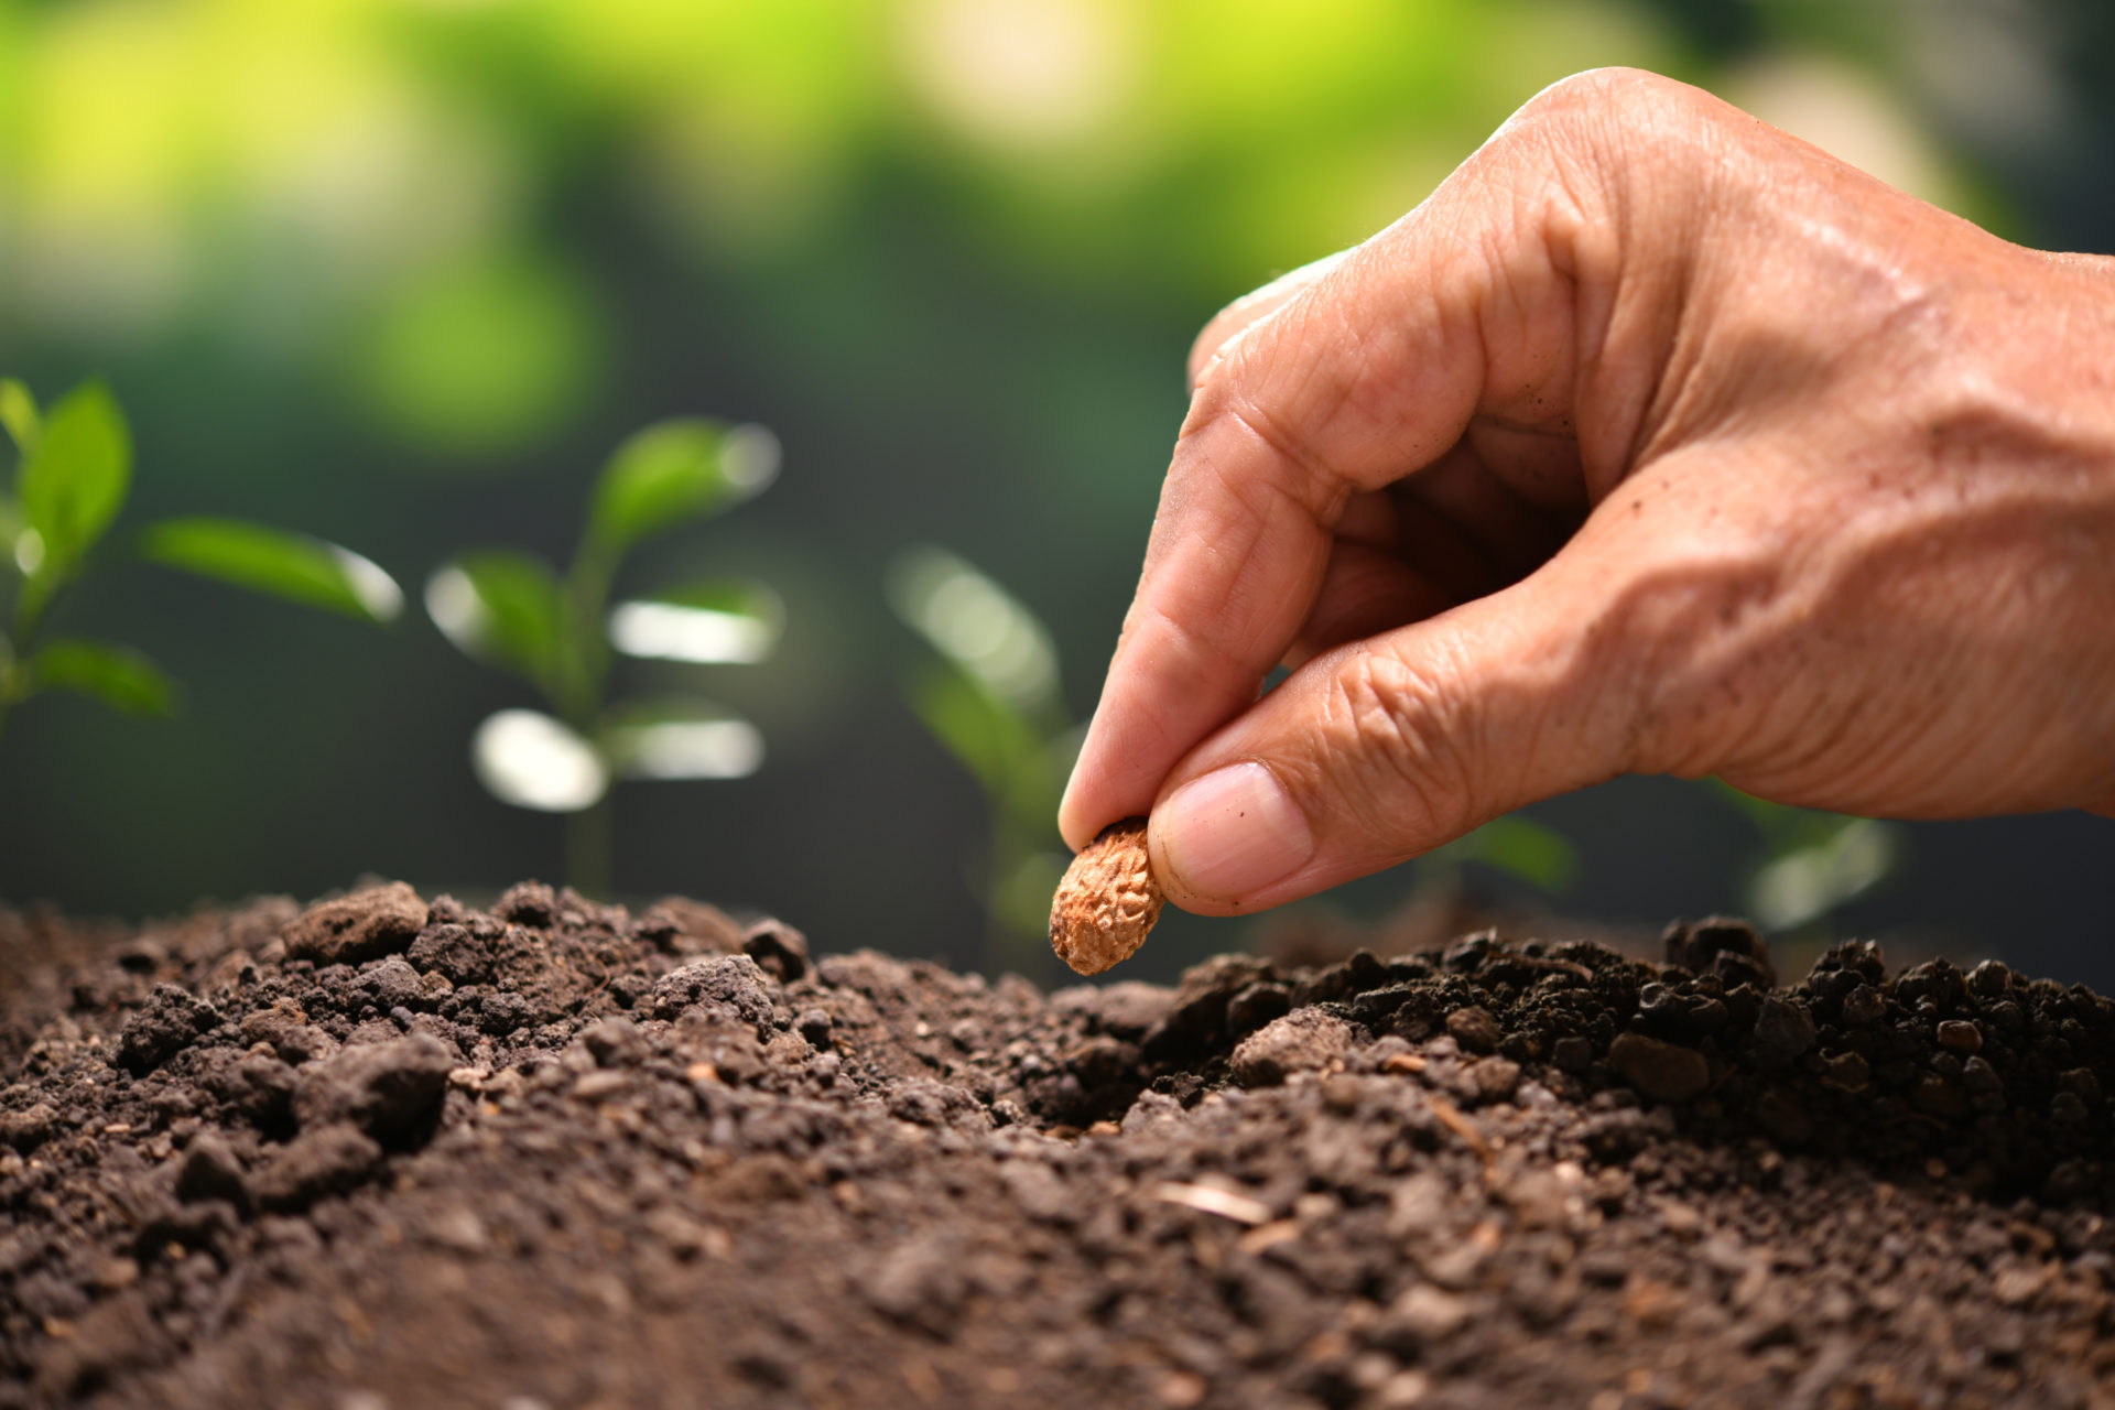
[{"label": "whole hand reaching from the right, pinching a brown seed", "polygon": [[[2115,803],[2115,281],[1565,80],[1233,304],[1060,822],[1252,911],[1616,774]],[[1292,674],[1258,691],[1277,662]]]}]

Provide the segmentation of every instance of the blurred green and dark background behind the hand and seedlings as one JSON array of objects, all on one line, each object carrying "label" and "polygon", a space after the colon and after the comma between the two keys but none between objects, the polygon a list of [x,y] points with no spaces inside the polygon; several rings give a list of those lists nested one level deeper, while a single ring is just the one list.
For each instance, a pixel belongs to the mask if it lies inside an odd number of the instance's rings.
[{"label": "blurred green and dark background behind the hand and seedlings", "polygon": [[[47,400],[110,378],[127,520],[328,535],[410,596],[372,630],[144,564],[85,581],[55,626],[146,649],[186,706],[55,695],[8,723],[0,898],[133,917],[360,873],[556,879],[560,818],[470,767],[478,721],[533,698],[419,594],[472,543],[563,560],[609,450],[706,414],[770,427],[783,471],[635,571],[761,579],[783,638],[620,674],[711,693],[766,753],[747,778],[622,784],[613,892],[1009,960],[994,848],[1049,843],[998,837],[975,748],[928,729],[948,624],[914,630],[920,602],[956,600],[933,596],[956,571],[958,605],[990,609],[971,626],[1055,662],[1034,725],[1062,755],[1195,330],[1603,63],[1709,87],[2009,239],[2115,249],[2100,0],[0,0],[0,374]],[[1671,780],[1529,818],[1546,831],[1294,924],[1440,896],[1656,930],[1753,905],[1772,856],[1838,837]],[[1901,827],[1878,860],[1821,858],[1849,867],[1823,913],[1779,920],[2104,987],[2111,829]],[[1174,917],[1140,972],[1269,924]]]}]

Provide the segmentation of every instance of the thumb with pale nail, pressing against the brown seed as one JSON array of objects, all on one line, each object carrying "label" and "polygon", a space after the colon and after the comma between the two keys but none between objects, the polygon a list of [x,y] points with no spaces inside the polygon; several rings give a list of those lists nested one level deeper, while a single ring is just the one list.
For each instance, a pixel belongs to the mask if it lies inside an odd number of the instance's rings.
[{"label": "thumb with pale nail, pressing against the brown seed", "polygon": [[1582,626],[1607,588],[1561,562],[1307,662],[1199,744],[1153,805],[1167,898],[1261,911],[1629,769],[1635,653]]}]

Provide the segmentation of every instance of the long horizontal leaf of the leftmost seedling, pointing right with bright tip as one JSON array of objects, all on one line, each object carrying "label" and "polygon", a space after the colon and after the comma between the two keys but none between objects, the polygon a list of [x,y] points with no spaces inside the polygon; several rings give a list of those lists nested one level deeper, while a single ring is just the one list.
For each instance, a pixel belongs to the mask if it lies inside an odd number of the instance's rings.
[{"label": "long horizontal leaf of the leftmost seedling, pointing right with bright tip", "polygon": [[396,579],[349,548],[228,518],[173,518],[140,535],[152,562],[362,621],[404,607]]}]

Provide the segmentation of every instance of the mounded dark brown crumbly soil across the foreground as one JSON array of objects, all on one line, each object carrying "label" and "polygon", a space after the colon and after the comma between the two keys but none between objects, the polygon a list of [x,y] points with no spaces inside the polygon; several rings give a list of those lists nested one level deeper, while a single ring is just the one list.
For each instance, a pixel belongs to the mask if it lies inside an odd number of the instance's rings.
[{"label": "mounded dark brown crumbly soil across the foreground", "polygon": [[0,1406],[2115,1406],[2115,1004],[1736,922],[1043,994],[0,911]]}]

